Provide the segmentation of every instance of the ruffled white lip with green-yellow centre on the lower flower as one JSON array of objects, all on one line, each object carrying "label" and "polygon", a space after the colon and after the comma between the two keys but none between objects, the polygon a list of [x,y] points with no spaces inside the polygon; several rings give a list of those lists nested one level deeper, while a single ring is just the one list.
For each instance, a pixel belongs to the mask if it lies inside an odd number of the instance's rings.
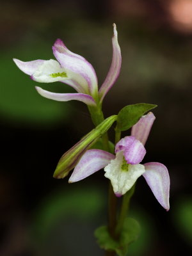
[{"label": "ruffled white lip with green-yellow centre on the lower flower", "polygon": [[128,170],[125,171],[122,169],[123,159],[123,152],[118,152],[116,158],[104,168],[105,177],[111,180],[116,196],[124,195],[145,172],[143,164],[128,164]]}]

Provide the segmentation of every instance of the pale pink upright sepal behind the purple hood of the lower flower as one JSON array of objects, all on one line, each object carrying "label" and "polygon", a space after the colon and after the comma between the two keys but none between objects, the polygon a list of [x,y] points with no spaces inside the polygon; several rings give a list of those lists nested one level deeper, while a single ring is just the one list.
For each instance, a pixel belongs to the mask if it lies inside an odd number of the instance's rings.
[{"label": "pale pink upright sepal behind the purple hood of the lower flower", "polygon": [[133,125],[131,129],[131,135],[134,136],[137,140],[141,141],[143,145],[145,145],[148,134],[155,119],[156,116],[154,116],[152,112],[142,116],[140,120],[135,125]]}]

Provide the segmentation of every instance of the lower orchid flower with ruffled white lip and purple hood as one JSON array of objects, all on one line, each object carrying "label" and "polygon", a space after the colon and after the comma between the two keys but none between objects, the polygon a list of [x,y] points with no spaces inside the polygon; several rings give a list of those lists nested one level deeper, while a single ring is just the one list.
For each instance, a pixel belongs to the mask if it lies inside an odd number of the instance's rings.
[{"label": "lower orchid flower with ruffled white lip and purple hood", "polygon": [[144,145],[154,120],[151,112],[142,116],[132,127],[131,136],[116,143],[116,155],[99,149],[86,151],[69,182],[79,181],[104,168],[104,176],[111,180],[115,195],[121,196],[143,175],[159,204],[168,211],[170,177],[166,166],[156,162],[140,164],[146,154]]}]

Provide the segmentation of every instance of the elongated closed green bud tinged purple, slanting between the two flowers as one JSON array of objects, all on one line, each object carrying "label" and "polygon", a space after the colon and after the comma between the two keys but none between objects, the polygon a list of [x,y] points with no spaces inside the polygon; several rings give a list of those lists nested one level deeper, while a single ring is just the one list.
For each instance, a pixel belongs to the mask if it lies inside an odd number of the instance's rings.
[{"label": "elongated closed green bud tinged purple, slanting between the two flowers", "polygon": [[116,115],[109,116],[101,124],[97,125],[95,129],[86,134],[86,136],[77,142],[74,147],[65,152],[65,154],[61,156],[53,177],[61,179],[67,176],[70,170],[76,166],[84,152],[92,147],[92,145],[100,138],[100,136],[102,136],[102,134],[108,131],[111,125],[116,121],[116,118]]}]

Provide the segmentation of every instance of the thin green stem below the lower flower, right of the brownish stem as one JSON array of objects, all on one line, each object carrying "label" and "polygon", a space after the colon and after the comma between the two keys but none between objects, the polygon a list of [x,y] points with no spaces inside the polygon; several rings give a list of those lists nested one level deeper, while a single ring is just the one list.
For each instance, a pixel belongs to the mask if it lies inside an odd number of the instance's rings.
[{"label": "thin green stem below the lower flower, right of the brownish stem", "polygon": [[120,234],[122,232],[122,228],[124,227],[124,221],[127,216],[128,209],[129,209],[129,203],[130,203],[131,196],[134,193],[134,188],[135,188],[135,185],[132,186],[132,188],[129,191],[127,191],[127,193],[123,197],[122,207],[120,210],[120,215],[119,215],[119,220],[118,220],[118,225],[116,226],[116,237],[120,236]]}]

